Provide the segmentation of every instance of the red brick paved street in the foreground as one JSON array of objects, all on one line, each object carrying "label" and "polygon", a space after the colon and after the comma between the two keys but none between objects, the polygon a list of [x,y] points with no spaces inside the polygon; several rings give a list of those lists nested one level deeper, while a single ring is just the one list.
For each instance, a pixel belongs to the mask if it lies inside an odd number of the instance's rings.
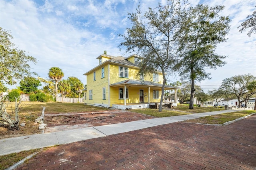
[{"label": "red brick paved street in the foreground", "polygon": [[55,146],[18,170],[256,170],[256,115],[227,126],[171,123]]}]

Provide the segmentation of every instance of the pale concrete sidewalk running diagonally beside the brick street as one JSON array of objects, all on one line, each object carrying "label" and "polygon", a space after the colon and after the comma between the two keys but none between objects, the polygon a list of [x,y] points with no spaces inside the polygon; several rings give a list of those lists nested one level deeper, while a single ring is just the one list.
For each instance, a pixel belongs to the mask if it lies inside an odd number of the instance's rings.
[{"label": "pale concrete sidewalk running diagonally beside the brick street", "polygon": [[20,136],[16,138],[5,138],[0,140],[0,155],[6,155],[23,150],[30,150],[36,148],[44,148],[59,144],[67,144],[81,140],[88,140],[102,136],[109,136],[123,132],[130,132],[148,127],[158,125],[165,125],[169,123],[186,121],[205,117],[210,115],[218,115],[222,113],[234,112],[234,110],[215,111],[207,113],[196,113],[190,115],[181,115],[173,117],[163,117],[155,119],[146,119],[141,121],[132,121],[126,123],[118,123],[112,125],[104,125],[98,127],[87,127],[73,130],[65,130],[44,134],[33,134],[27,136]]}]

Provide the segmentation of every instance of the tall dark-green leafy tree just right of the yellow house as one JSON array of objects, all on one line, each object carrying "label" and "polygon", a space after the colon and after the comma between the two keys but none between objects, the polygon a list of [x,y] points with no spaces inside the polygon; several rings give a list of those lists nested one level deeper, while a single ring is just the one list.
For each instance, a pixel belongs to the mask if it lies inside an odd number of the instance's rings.
[{"label": "tall dark-green leafy tree just right of the yellow house", "polygon": [[189,9],[187,29],[180,34],[180,60],[177,68],[182,79],[190,79],[190,105],[193,109],[195,80],[201,81],[210,78],[206,68],[216,69],[223,66],[226,56],[214,53],[216,45],[226,41],[229,32],[230,19],[220,16],[224,6],[209,7],[198,4]]}]

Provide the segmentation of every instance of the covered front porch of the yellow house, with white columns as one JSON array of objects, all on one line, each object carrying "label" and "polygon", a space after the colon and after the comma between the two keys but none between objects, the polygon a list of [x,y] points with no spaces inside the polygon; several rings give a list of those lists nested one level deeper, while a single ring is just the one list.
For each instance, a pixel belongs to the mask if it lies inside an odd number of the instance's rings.
[{"label": "covered front porch of the yellow house, with white columns", "polygon": [[[160,103],[162,84],[155,83],[151,81],[143,80],[125,80],[118,83],[111,84],[110,87],[113,91],[119,89],[122,92],[118,101],[110,101],[112,107],[115,109],[143,109],[149,108],[149,105],[155,105],[155,103]],[[172,87],[166,85],[164,90],[174,90],[175,98],[174,103],[176,103],[177,89],[178,87]]]}]

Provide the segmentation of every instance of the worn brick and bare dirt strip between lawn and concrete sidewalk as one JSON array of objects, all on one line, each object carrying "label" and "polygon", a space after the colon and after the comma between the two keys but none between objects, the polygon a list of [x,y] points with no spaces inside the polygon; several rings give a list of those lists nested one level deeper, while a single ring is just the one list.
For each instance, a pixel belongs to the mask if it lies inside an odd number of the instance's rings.
[{"label": "worn brick and bare dirt strip between lawn and concrete sidewalk", "polygon": [[[56,132],[62,130],[110,125],[152,118],[155,117],[120,110],[55,114],[47,113],[44,115],[44,123],[47,124],[47,127],[43,130],[43,132]],[[21,127],[20,130],[12,131],[0,129],[0,139],[38,133],[42,133],[42,130],[38,130],[38,126],[35,125],[33,121],[30,121],[29,123],[26,123],[25,127]]]}]

